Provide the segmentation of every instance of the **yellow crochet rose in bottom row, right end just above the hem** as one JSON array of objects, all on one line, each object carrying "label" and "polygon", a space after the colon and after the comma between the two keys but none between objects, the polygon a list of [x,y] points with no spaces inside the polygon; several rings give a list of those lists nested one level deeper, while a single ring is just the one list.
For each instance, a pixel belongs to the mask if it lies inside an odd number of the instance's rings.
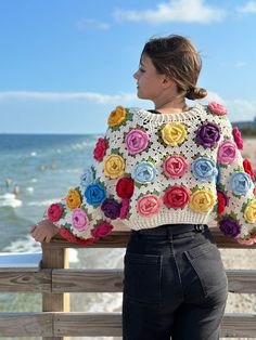
[{"label": "yellow crochet rose in bottom row, right end just above the hem", "polygon": [[215,197],[212,192],[199,189],[190,197],[189,207],[196,212],[206,212],[215,205]]}]

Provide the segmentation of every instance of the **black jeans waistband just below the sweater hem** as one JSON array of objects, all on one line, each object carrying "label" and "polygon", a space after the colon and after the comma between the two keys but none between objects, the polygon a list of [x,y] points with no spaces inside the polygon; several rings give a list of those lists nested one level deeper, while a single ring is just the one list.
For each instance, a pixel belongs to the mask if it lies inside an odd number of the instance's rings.
[{"label": "black jeans waistband just below the sweater hem", "polygon": [[132,231],[140,235],[178,235],[188,232],[203,233],[208,226],[206,224],[163,224],[152,228]]}]

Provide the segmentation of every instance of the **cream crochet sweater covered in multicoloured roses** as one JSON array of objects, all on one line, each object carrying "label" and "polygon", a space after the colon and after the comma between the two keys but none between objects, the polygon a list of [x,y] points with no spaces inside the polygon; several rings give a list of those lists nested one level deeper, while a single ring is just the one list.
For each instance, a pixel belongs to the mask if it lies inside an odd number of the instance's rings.
[{"label": "cream crochet sweater covered in multicoloured roses", "polygon": [[117,106],[107,122],[94,164],[47,210],[62,236],[92,243],[120,220],[136,231],[216,221],[228,237],[256,241],[254,172],[222,105],[180,114]]}]

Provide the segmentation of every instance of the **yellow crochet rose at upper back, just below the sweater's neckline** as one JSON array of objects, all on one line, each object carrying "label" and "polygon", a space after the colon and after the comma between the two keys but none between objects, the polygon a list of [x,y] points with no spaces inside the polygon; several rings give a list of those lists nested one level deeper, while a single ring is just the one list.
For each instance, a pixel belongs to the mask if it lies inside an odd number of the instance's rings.
[{"label": "yellow crochet rose at upper back, just below the sweater's neckline", "polygon": [[162,129],[163,141],[170,146],[180,145],[187,138],[187,127],[180,122],[170,122]]}]

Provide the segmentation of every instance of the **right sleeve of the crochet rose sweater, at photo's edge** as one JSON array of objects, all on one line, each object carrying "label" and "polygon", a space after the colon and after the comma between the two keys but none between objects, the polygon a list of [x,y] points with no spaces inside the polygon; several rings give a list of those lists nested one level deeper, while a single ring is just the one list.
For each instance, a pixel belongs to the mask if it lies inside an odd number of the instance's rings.
[{"label": "right sleeve of the crochet rose sweater, at photo's edge", "polygon": [[222,139],[218,146],[217,181],[218,225],[228,237],[240,244],[256,243],[256,199],[254,171],[248,159],[243,159],[243,140],[238,128],[222,120]]}]

